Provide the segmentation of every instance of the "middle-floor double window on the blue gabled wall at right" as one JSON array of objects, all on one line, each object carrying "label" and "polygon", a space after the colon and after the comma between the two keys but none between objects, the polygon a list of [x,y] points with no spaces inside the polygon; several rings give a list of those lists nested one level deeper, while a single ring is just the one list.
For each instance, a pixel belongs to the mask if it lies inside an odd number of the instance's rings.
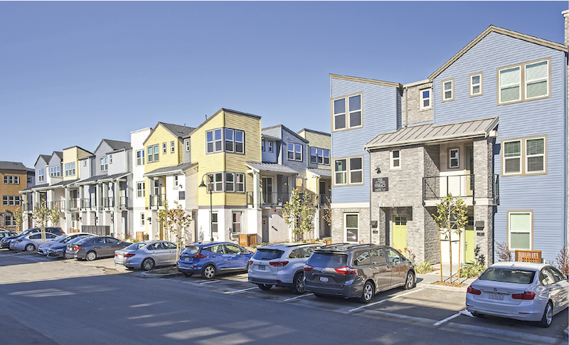
[{"label": "middle-floor double window on the blue gabled wall at right", "polygon": [[547,174],[547,137],[502,141],[502,174]]}]

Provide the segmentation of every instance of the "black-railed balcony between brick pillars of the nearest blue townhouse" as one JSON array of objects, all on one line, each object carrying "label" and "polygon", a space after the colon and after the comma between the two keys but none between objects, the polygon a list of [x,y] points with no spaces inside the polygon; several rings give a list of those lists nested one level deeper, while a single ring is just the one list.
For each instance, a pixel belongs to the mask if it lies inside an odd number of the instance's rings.
[{"label": "black-railed balcony between brick pillars of the nearest blue townhouse", "polygon": [[[499,175],[493,174],[490,189],[491,202],[499,204]],[[441,198],[451,193],[461,197],[467,206],[474,205],[474,174],[453,176],[430,176],[422,178],[422,202],[424,206],[435,206]],[[484,196],[479,195],[479,198]]]}]

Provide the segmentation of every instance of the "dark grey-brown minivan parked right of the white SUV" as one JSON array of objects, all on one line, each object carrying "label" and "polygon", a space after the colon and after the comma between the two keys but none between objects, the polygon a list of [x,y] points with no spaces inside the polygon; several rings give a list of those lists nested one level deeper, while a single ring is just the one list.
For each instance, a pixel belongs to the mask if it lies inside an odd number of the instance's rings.
[{"label": "dark grey-brown minivan parked right of the white SUV", "polygon": [[304,265],[305,290],[316,297],[356,297],[368,303],[376,292],[401,286],[415,287],[415,266],[387,245],[329,245]]}]

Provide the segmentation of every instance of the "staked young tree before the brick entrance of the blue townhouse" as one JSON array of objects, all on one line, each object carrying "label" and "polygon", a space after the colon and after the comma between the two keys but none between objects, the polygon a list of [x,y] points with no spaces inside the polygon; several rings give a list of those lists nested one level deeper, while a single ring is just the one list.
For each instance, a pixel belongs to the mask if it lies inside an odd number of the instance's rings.
[{"label": "staked young tree before the brick entrance of the blue townhouse", "polygon": [[[432,214],[432,218],[435,220],[435,223],[437,223],[440,233],[445,236],[445,240],[449,240],[450,277],[452,277],[452,233],[459,235],[460,239],[460,234],[462,233],[462,230],[464,230],[468,221],[467,206],[464,204],[461,197],[454,198],[451,193],[448,193],[448,195],[441,198],[440,203],[437,204],[437,213]],[[442,262],[440,280],[442,282]]]}]

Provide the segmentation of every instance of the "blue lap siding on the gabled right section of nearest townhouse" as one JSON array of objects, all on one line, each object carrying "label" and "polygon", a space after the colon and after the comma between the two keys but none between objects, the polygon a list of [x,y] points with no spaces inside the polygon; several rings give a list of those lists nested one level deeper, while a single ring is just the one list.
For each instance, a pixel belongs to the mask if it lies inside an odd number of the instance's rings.
[{"label": "blue lap siding on the gabled right section of nearest townhouse", "polygon": [[[497,68],[551,58],[551,97],[497,105]],[[548,261],[563,247],[567,164],[565,54],[499,33],[490,33],[434,80],[435,122],[499,117],[494,173],[500,174],[500,205],[494,218],[496,242],[507,240],[507,211],[533,211],[533,250]],[[483,95],[469,97],[469,75],[483,73]],[[454,101],[442,103],[441,80],[454,78]],[[547,135],[546,175],[501,176],[503,139]]]}]

